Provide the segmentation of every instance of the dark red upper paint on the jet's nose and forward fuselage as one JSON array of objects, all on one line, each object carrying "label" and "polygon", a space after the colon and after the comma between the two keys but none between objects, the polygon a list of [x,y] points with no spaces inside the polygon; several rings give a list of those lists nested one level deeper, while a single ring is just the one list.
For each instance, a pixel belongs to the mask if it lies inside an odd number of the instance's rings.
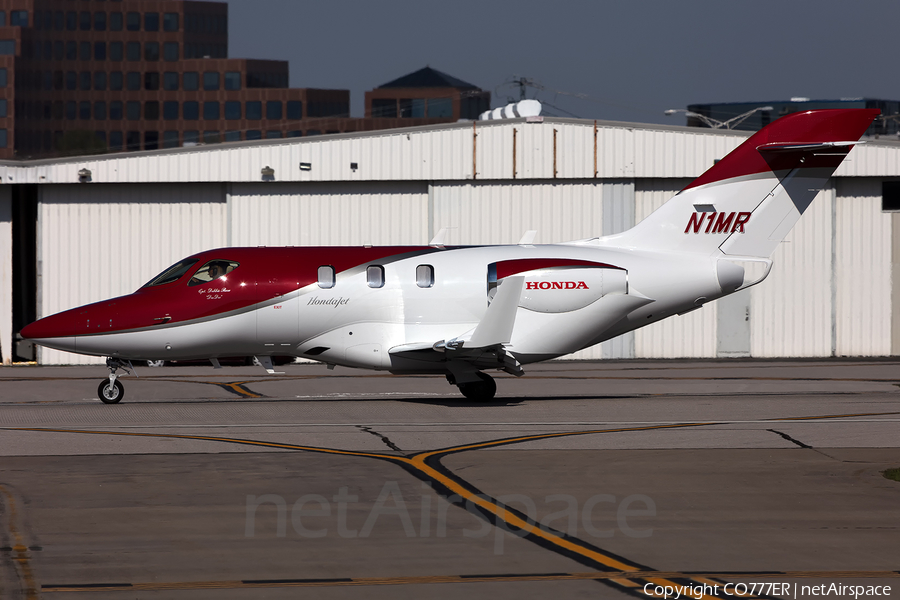
[{"label": "dark red upper paint on the jet's nose and forward fuselage", "polygon": [[[57,313],[28,325],[21,333],[29,339],[48,339],[194,321],[247,309],[315,283],[323,265],[340,274],[366,264],[386,264],[437,251],[430,246],[208,250],[189,257],[197,262],[177,281]],[[234,261],[240,266],[224,279],[188,286],[193,274],[211,260]]]}]

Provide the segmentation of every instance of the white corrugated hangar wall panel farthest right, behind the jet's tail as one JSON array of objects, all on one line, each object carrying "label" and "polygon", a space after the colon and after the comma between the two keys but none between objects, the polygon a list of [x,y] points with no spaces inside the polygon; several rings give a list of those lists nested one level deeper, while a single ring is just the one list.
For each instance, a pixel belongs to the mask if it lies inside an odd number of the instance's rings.
[{"label": "white corrugated hangar wall panel farthest right, behind the jet's tail", "polygon": [[891,214],[881,182],[838,180],[835,210],[835,354],[891,353]]}]

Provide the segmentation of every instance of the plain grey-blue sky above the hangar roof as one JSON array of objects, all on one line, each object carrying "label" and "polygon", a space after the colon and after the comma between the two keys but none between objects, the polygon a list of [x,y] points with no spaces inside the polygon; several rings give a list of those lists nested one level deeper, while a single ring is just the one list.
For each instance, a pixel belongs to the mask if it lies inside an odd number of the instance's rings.
[{"label": "plain grey-blue sky above the hangar roof", "polygon": [[[366,90],[426,65],[560,116],[683,124],[697,102],[900,100],[898,0],[229,0],[229,56],[291,87]],[[579,98],[575,95],[580,94]]]}]

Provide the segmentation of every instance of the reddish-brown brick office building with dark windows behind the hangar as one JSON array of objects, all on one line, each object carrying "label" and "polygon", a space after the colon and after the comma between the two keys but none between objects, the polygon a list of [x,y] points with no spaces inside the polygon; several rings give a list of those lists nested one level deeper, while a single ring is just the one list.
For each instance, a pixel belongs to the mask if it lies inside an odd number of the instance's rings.
[{"label": "reddish-brown brick office building with dark windows behind the hangar", "polygon": [[222,2],[0,0],[0,159],[427,125],[490,105],[426,67],[350,118],[348,90],[289,88],[287,61],[227,56]]}]

